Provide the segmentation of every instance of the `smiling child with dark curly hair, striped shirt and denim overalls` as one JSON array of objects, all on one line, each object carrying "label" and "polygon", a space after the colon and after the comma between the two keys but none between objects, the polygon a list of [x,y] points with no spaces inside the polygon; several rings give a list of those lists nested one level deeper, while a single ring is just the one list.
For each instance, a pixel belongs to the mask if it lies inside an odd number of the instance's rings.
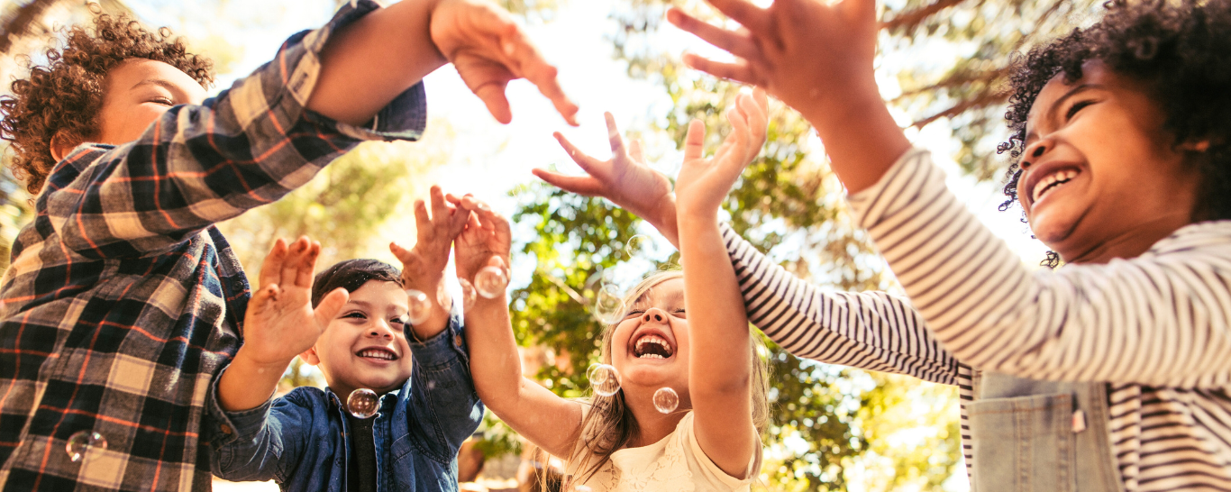
[{"label": "smiling child with dark curly hair, striped shirt and denim overalls", "polygon": [[741,59],[688,63],[809,118],[911,298],[819,292],[724,228],[753,323],[803,357],[959,385],[972,490],[1231,490],[1231,2],[1112,1],[1014,66],[1007,192],[1069,263],[1041,272],[910,150],[874,82],[872,1],[710,4],[747,31],[670,20]]}]

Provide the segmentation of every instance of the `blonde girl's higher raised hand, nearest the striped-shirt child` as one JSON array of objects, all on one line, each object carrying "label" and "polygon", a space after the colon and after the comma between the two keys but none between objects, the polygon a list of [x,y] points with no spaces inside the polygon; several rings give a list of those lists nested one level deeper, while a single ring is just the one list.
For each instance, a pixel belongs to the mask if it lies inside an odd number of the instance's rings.
[{"label": "blonde girl's higher raised hand, nearest the striped-shirt child", "polygon": [[767,108],[768,98],[760,89],[752,95],[736,96],[735,108],[728,113],[731,133],[709,159],[704,157],[703,148],[705,125],[696,119],[689,124],[684,138],[684,164],[676,178],[676,199],[681,215],[707,220],[718,216],[718,208],[730,193],[731,186],[764,145]]}]

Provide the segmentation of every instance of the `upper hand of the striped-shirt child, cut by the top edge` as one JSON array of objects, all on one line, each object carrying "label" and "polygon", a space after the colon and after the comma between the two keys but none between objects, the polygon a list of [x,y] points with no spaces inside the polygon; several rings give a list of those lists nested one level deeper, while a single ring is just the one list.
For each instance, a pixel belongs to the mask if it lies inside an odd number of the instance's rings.
[{"label": "upper hand of the striped-shirt child, cut by the top edge", "polygon": [[750,0],[708,1],[744,27],[728,31],[678,9],[668,11],[667,20],[736,60],[720,63],[689,54],[684,57],[688,65],[764,87],[805,116],[817,102],[832,108],[868,96],[880,103],[873,73],[875,1],[776,0],[766,9]]}]

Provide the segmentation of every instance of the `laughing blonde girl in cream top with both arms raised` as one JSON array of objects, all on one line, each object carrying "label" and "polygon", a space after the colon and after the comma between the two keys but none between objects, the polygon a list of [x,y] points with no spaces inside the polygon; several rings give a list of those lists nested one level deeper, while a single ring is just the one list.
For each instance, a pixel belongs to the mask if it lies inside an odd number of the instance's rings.
[{"label": "laughing blonde girl in cream top with both arms raised", "polygon": [[[681,189],[713,180],[709,167],[741,169],[760,149],[764,107],[746,102],[715,157],[702,159],[694,128]],[[473,198],[458,203],[475,213],[454,246],[458,276],[506,266],[507,223]],[[681,210],[704,205],[681,200]],[[719,236],[683,240],[682,255],[682,274],[646,278],[629,293],[623,319],[603,331],[602,362],[619,373],[612,396],[565,400],[524,379],[503,295],[467,312],[479,396],[527,440],[569,460],[563,490],[747,491],[757,477],[767,418],[758,338]],[[678,395],[677,408],[655,403],[660,389]]]}]

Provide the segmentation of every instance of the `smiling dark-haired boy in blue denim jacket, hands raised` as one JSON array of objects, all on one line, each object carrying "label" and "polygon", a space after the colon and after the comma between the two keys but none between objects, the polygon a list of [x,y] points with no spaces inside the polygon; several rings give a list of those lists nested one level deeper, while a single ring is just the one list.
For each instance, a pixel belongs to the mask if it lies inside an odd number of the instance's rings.
[{"label": "smiling dark-haired boy in blue denim jacket, hands raised", "polygon": [[[284,491],[448,491],[457,454],[483,419],[458,319],[430,296],[431,316],[406,322],[403,290],[436,293],[467,213],[432,187],[432,216],[416,204],[419,242],[398,274],[348,260],[311,278],[320,245],[278,240],[247,305],[246,339],[218,378],[214,416],[233,434],[213,443],[214,474],[275,480]],[[310,293],[310,299],[309,299]],[[407,343],[407,339],[411,341]],[[297,387],[271,401],[297,354],[320,367],[326,391]],[[379,395],[373,412],[350,400]]]}]

